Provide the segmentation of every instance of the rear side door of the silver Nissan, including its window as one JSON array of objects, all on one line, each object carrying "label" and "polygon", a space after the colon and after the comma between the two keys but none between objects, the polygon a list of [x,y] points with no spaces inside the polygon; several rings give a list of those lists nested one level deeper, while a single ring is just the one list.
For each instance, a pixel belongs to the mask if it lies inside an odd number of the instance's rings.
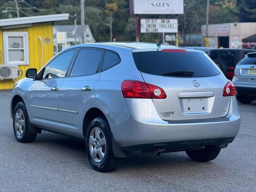
[{"label": "rear side door of the silver Nissan, including its window", "polygon": [[81,48],[59,93],[60,129],[83,137],[82,124],[91,107],[94,88],[100,79],[103,51]]}]

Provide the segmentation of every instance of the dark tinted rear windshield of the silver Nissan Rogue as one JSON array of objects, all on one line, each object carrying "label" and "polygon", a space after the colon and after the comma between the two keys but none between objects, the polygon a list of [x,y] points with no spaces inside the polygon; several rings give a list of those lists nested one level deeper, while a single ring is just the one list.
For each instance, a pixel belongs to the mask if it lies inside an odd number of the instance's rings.
[{"label": "dark tinted rear windshield of the silver Nissan Rogue", "polygon": [[133,58],[138,70],[147,74],[163,75],[182,71],[194,72],[185,77],[207,77],[220,74],[214,62],[200,52],[143,51],[133,52]]}]

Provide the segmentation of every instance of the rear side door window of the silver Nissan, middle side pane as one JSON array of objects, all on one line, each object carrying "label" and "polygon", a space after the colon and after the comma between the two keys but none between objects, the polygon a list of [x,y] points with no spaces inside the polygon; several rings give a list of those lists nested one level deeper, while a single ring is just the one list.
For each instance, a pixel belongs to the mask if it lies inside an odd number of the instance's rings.
[{"label": "rear side door window of the silver Nissan, middle side pane", "polygon": [[86,76],[100,72],[102,50],[80,49],[70,76]]}]

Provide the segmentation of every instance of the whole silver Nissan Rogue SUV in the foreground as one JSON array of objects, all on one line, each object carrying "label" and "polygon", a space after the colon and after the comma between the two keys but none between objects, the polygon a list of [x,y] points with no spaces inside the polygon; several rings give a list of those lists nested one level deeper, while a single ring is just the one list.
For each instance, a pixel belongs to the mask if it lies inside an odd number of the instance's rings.
[{"label": "whole silver Nissan Rogue SUV in the foreground", "polygon": [[200,50],[139,43],[67,48],[10,98],[19,142],[41,130],[86,140],[88,160],[115,170],[130,151],[213,160],[238,134],[236,88]]}]

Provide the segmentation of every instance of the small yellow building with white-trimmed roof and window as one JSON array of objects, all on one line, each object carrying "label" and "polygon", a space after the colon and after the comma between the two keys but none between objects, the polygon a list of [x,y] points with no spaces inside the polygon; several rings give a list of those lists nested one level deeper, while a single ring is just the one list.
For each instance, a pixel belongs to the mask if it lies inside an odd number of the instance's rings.
[{"label": "small yellow building with white-trimmed roof and window", "polygon": [[38,70],[54,55],[54,21],[68,14],[0,20],[0,90],[12,89],[28,68]]}]

